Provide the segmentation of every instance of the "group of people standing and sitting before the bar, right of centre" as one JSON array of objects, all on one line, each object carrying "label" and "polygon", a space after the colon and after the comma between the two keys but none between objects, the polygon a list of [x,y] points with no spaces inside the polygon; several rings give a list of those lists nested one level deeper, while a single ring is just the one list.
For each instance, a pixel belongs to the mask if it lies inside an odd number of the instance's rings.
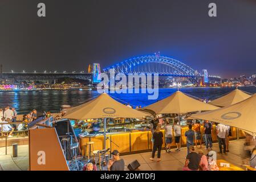
[{"label": "group of people standing and sitting before the bar, right of centre", "polygon": [[[201,123],[199,121],[193,121],[189,123],[188,130],[185,132],[186,137],[186,147],[187,155],[184,170],[218,170],[217,164],[214,163],[213,158],[210,155],[204,155],[204,151],[199,150],[198,153],[194,151],[194,146],[197,148],[202,148],[202,140],[205,143],[205,150],[212,151],[213,146],[213,124],[209,121],[204,121],[202,124],[203,130],[201,130]],[[165,130],[165,150],[166,152],[171,152],[171,144],[174,140],[177,148],[176,152],[180,151],[180,137],[181,137],[181,126],[177,121],[170,125],[168,119],[166,119],[165,126],[161,126],[158,119],[152,121],[152,156],[150,160],[155,160],[155,153],[157,151],[157,162],[161,160],[161,148],[162,148],[162,138],[164,137],[161,129]],[[218,144],[220,151],[218,154],[226,154],[229,152],[229,137],[231,136],[231,127],[222,125],[221,123],[216,123],[216,135],[218,139]],[[200,144],[198,146],[198,143]],[[223,147],[222,147],[223,146]]]}]

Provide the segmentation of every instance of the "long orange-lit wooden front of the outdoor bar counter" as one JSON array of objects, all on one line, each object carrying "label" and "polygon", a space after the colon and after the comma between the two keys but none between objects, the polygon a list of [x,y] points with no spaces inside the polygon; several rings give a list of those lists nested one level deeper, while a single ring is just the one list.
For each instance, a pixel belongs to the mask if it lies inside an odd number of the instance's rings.
[{"label": "long orange-lit wooden front of the outdoor bar counter", "polygon": [[[201,131],[203,131],[203,126],[201,126]],[[230,140],[244,138],[245,133],[241,130],[237,130],[235,127],[231,127],[232,136]],[[188,130],[188,126],[182,126],[181,131],[181,146],[186,146],[186,137],[184,136],[185,132]],[[165,131],[161,130],[165,136]],[[203,133],[203,132],[201,132]],[[108,139],[106,144],[107,148],[111,148],[111,151],[118,150],[121,155],[126,154],[135,154],[139,152],[151,151],[152,150],[152,142],[151,131],[135,131],[135,132],[119,132],[119,133],[107,133],[107,137],[115,142],[119,147],[115,146],[113,142],[110,142]],[[213,142],[217,142],[216,136],[216,126],[213,125],[213,134],[212,134]],[[104,137],[103,135],[96,137],[80,137],[80,148],[82,150],[82,154],[84,155],[84,150],[86,143],[91,141],[94,142],[94,150],[103,150],[104,145]],[[163,144],[162,147],[165,147],[165,137],[162,138]],[[176,144],[174,143],[174,134],[173,134],[173,142],[172,147],[175,148]]]}]

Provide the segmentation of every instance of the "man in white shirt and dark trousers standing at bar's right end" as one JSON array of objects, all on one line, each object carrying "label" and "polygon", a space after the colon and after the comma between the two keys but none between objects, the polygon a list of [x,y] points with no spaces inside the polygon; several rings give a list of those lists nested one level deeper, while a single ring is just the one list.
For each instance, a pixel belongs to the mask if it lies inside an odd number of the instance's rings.
[{"label": "man in white shirt and dark trousers standing at bar's right end", "polygon": [[219,154],[222,154],[222,144],[224,147],[223,148],[224,154],[226,154],[226,133],[228,133],[226,125],[222,125],[219,123],[216,126],[216,134],[217,134],[218,143],[220,147],[220,152],[218,152]]}]

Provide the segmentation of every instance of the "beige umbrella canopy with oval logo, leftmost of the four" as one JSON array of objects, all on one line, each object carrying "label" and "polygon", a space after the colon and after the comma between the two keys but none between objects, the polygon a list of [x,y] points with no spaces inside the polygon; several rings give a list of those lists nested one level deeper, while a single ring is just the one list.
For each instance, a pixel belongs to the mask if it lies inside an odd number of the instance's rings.
[{"label": "beige umbrella canopy with oval logo, leftmost of the four", "polygon": [[100,94],[94,100],[73,107],[63,118],[96,119],[96,118],[143,118],[149,114],[131,109],[111,98],[108,94]]}]

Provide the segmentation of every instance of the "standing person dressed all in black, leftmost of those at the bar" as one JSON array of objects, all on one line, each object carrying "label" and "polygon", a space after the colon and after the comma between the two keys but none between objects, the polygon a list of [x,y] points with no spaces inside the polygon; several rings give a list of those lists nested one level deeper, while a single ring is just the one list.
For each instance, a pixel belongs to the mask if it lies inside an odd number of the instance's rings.
[{"label": "standing person dressed all in black, leftmost of those at the bar", "polygon": [[159,162],[161,159],[161,148],[162,148],[162,132],[160,131],[160,128],[157,127],[156,131],[153,133],[153,151],[152,151],[152,158],[150,160],[154,160],[155,153],[157,150],[157,162]]}]

